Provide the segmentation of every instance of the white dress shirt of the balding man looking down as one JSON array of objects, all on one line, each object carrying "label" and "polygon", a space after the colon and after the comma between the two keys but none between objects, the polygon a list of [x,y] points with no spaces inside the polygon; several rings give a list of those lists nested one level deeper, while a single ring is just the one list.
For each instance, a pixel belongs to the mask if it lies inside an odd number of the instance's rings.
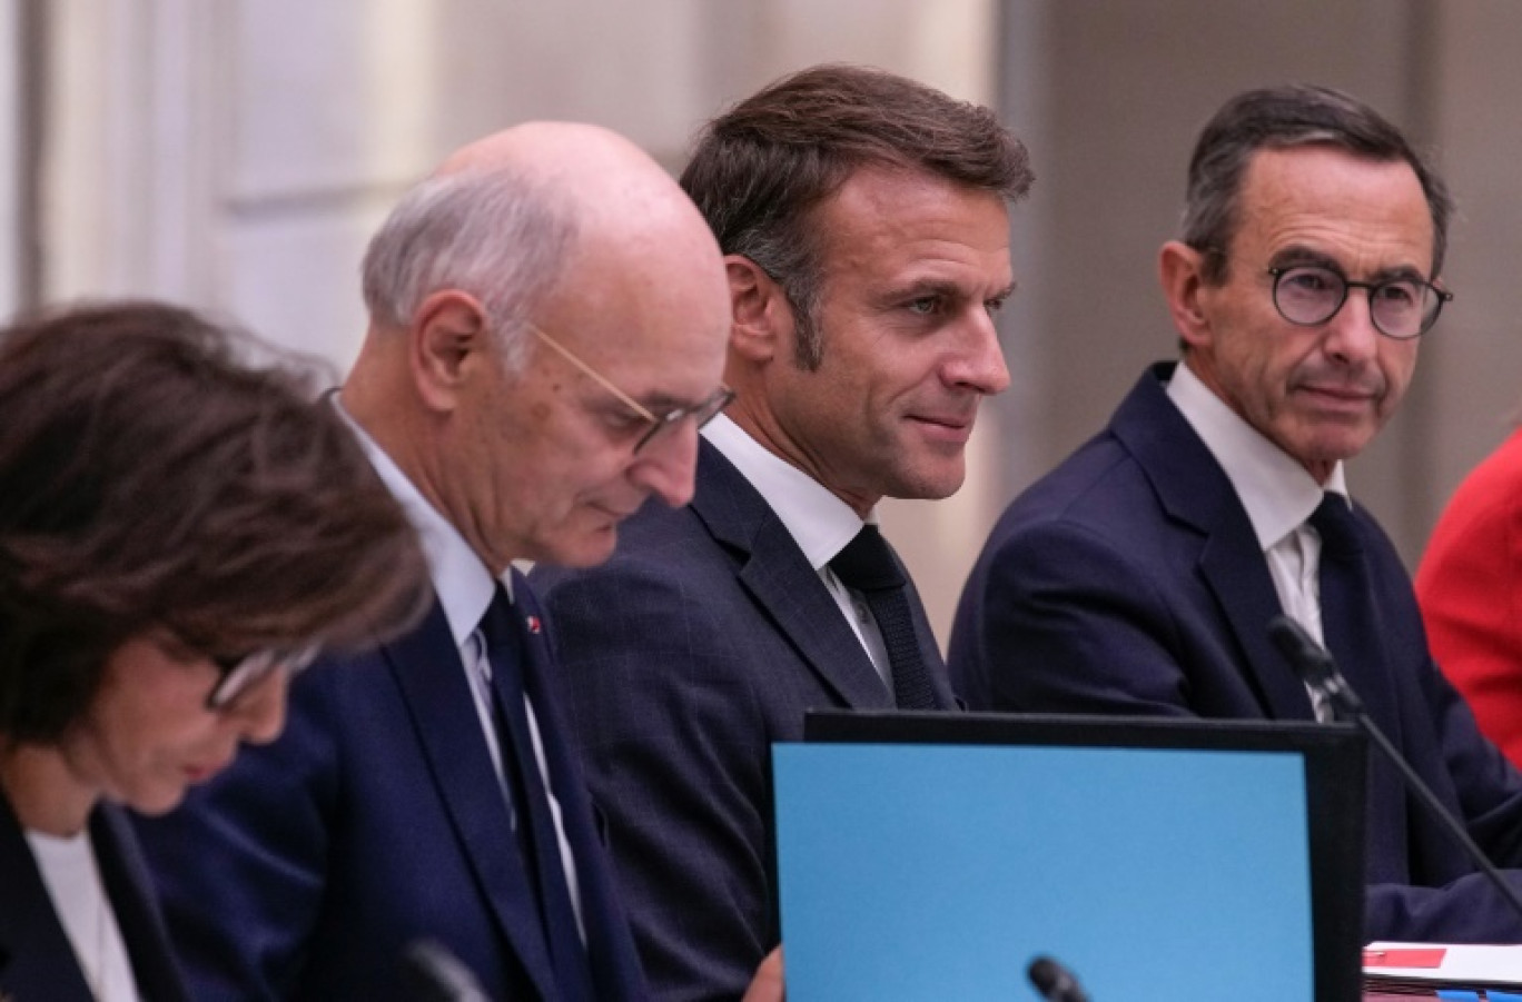
[{"label": "white dress shirt of the balding man looking down", "polygon": [[[449,633],[460,648],[460,661],[466,669],[466,681],[470,684],[470,695],[475,698],[476,719],[481,722],[481,734],[486,737],[487,753],[492,756],[492,768],[501,785],[502,795],[508,801],[510,813],[513,797],[508,792],[507,777],[502,772],[502,750],[498,742],[496,719],[492,713],[492,664],[486,657],[486,639],[481,636],[481,619],[496,593],[498,579],[492,576],[476,552],[470,549],[460,531],[444,518],[423,497],[417,487],[402,473],[391,456],[380,449],[370,435],[355,423],[342,407],[342,401],[333,397],[338,412],[344,415],[355,436],[364,447],[365,455],[374,465],[380,480],[387,485],[397,503],[406,512],[408,520],[417,531],[423,555],[428,558],[429,578],[438,604],[443,607]],[[501,578],[507,596],[513,598],[513,579],[510,573]],[[539,774],[543,777],[545,791],[549,794],[549,810],[556,820],[556,835],[560,839],[560,861],[565,864],[566,886],[571,888],[571,905],[575,908],[577,927],[581,940],[586,940],[586,926],[581,921],[581,888],[577,879],[575,856],[566,841],[565,823],[560,817],[560,801],[556,798],[554,786],[549,783],[549,768],[545,765],[545,748],[539,737],[539,718],[534,715],[534,704],[524,695],[524,706],[528,710],[528,730],[534,742],[534,757]]]}]

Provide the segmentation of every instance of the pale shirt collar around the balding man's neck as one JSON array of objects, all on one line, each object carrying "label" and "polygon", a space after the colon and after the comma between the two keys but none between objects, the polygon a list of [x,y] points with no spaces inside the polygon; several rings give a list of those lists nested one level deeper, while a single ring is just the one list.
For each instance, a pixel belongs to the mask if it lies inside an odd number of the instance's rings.
[{"label": "pale shirt collar around the balding man's neck", "polygon": [[[428,573],[434,582],[434,593],[438,596],[444,619],[449,622],[449,633],[455,639],[455,645],[463,648],[466,639],[481,625],[481,617],[486,616],[486,610],[492,604],[496,585],[492,572],[470,549],[460,531],[423,497],[412,480],[380,449],[380,444],[370,438],[370,433],[344,411],[342,400],[336,394],[333,406],[353,429],[355,438],[359,439],[359,446],[380,476],[380,482],[402,505],[408,522],[417,531],[423,556],[428,558]],[[507,588],[507,596],[513,598],[511,572],[502,575],[501,584]]]}]

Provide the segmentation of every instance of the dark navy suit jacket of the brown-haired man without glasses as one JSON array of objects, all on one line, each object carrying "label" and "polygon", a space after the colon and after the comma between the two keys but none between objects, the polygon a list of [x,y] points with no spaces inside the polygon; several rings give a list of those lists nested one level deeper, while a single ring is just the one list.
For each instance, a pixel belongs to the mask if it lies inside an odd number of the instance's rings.
[{"label": "dark navy suit jacket of the brown-haired man without glasses", "polygon": [[688,506],[647,503],[607,564],[533,581],[651,988],[738,997],[779,935],[772,742],[802,737],[807,709],[893,696],[787,528],[706,441]]}]

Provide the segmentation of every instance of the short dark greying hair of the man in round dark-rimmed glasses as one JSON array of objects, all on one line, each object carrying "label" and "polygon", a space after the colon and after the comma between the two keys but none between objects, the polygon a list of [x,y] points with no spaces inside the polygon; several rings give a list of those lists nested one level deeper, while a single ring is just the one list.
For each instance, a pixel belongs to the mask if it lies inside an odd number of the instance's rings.
[{"label": "short dark greying hair of the man in round dark-rimmed glasses", "polygon": [[1406,137],[1377,111],[1329,87],[1286,84],[1237,94],[1218,111],[1189,161],[1184,243],[1205,255],[1202,277],[1227,278],[1227,251],[1240,225],[1242,179],[1262,149],[1332,146],[1380,163],[1405,161],[1432,213],[1432,278],[1447,254],[1454,213],[1447,185]]}]

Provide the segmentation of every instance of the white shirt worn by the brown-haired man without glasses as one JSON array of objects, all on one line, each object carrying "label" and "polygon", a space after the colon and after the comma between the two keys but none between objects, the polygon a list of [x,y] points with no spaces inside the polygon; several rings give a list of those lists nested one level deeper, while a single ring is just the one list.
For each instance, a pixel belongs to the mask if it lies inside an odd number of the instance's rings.
[{"label": "white shirt worn by the brown-haired man without glasses", "polygon": [[[829,561],[855,538],[855,534],[866,523],[851,505],[831,494],[829,488],[767,450],[728,415],[720,414],[705,424],[703,438],[724,453],[724,459],[740,470],[740,476],[749,480],[767,506],[776,512],[778,520],[798,543],[798,549],[804,552],[804,560],[825,582],[829,598],[840,607],[840,614],[846,617],[857,640],[861,642],[861,648],[872,660],[872,667],[883,678],[883,684],[892,692],[893,669],[887,660],[887,646],[883,643],[883,633],[877,628],[872,610],[868,608],[860,591],[848,588],[829,569]],[[872,512],[868,522],[875,523],[877,512]]]}]

